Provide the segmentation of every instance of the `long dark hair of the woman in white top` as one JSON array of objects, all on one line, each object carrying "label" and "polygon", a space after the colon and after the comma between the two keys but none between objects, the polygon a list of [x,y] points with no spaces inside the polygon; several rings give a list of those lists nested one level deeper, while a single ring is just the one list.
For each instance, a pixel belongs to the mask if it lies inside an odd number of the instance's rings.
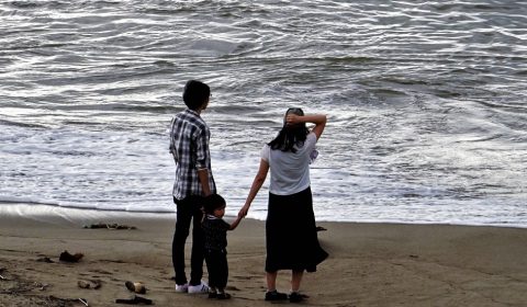
[{"label": "long dark hair of the woman in white top", "polygon": [[[291,113],[296,115],[304,115],[302,109],[299,107],[289,109],[285,112],[285,116]],[[302,146],[310,130],[305,126],[305,123],[287,125],[285,118],[283,120],[283,122],[284,123],[282,129],[278,133],[278,136],[268,145],[271,147],[271,149],[279,149],[285,152],[291,151],[294,154],[296,152],[296,148],[294,148],[294,146]]]}]

